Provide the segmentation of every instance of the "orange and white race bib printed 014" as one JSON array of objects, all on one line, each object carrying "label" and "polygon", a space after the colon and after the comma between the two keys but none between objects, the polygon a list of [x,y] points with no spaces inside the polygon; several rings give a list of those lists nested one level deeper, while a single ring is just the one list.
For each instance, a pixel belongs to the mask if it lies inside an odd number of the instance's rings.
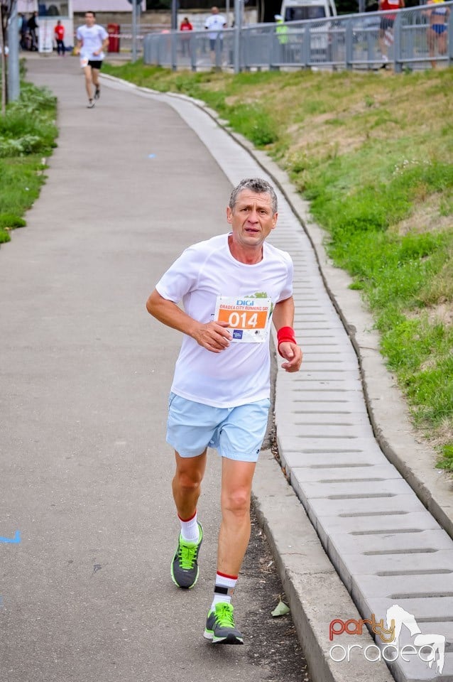
[{"label": "orange and white race bib printed 014", "polygon": [[229,324],[233,341],[262,343],[268,337],[272,307],[271,298],[217,296],[214,319]]}]

